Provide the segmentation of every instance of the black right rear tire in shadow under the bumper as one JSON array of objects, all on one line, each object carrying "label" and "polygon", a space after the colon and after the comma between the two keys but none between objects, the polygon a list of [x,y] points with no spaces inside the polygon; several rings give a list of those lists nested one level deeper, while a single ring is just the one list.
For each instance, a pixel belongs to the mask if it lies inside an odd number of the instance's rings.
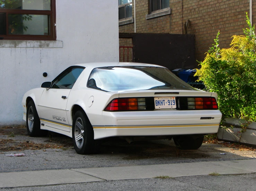
[{"label": "black right rear tire in shadow under the bumper", "polygon": [[194,150],[201,147],[204,136],[182,135],[173,138],[176,147],[182,150]]}]

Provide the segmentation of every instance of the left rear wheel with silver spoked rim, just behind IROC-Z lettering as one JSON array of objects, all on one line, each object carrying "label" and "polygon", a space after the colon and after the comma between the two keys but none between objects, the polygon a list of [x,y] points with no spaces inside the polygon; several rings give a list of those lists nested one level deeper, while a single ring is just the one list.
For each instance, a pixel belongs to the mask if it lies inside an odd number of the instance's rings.
[{"label": "left rear wheel with silver spoked rim, just behind IROC-Z lettering", "polygon": [[84,111],[77,111],[72,124],[72,141],[78,154],[97,152],[92,125]]}]

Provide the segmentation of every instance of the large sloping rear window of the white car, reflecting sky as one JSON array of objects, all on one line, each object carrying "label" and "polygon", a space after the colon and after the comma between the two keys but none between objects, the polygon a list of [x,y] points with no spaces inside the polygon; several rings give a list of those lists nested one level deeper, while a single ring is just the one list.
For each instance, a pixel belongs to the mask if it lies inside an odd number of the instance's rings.
[{"label": "large sloping rear window of the white car, reflecting sky", "polygon": [[144,66],[95,68],[87,86],[103,91],[196,90],[167,68]]}]

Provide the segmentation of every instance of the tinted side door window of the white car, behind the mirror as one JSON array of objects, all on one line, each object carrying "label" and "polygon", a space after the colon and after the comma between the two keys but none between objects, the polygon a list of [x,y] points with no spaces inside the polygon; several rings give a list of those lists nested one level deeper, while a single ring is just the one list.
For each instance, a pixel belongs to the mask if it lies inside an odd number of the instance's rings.
[{"label": "tinted side door window of the white car, behind the mirror", "polygon": [[82,73],[83,68],[69,68],[64,71],[55,81],[53,82],[52,88],[55,89],[72,89],[74,83]]}]

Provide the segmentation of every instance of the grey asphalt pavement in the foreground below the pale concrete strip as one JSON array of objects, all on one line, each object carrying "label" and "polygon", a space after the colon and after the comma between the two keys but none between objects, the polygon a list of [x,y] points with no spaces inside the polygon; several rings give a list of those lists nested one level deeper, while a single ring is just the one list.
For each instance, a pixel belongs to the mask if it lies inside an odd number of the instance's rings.
[{"label": "grey asphalt pavement in the foreground below the pale concrete strip", "polygon": [[91,190],[91,191],[251,191],[256,188],[256,174],[191,176],[168,179],[138,179],[88,182],[40,187],[0,189],[1,191]]}]

